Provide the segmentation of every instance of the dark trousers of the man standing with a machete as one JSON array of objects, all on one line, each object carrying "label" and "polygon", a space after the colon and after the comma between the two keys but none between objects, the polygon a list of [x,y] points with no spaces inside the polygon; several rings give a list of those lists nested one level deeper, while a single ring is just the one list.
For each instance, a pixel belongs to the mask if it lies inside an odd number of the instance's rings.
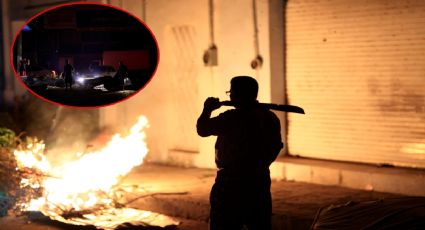
[{"label": "dark trousers of the man standing with a machete", "polygon": [[234,178],[217,172],[210,194],[210,229],[270,230],[272,200],[270,176]]}]

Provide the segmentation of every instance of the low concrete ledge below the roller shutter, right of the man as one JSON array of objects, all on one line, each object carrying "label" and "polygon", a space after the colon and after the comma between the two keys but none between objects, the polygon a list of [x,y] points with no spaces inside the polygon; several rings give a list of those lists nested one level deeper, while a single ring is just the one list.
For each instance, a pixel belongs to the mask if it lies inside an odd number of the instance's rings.
[{"label": "low concrete ledge below the roller shutter, right of the man", "polygon": [[277,180],[425,196],[423,169],[286,157],[272,165],[271,176]]}]

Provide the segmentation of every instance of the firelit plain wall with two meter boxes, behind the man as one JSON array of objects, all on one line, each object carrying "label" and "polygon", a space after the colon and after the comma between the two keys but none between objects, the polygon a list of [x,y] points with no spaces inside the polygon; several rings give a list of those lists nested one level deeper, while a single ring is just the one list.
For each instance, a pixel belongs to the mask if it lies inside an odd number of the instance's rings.
[{"label": "firelit plain wall with two meter boxes, behind the man", "polygon": [[[196,119],[207,97],[227,99],[225,91],[235,75],[250,75],[258,80],[260,101],[284,101],[283,71],[280,71],[283,69],[283,21],[270,21],[270,17],[282,18],[281,1],[256,2],[259,51],[264,59],[258,70],[250,66],[256,56],[250,0],[214,1],[214,34],[218,48],[218,65],[214,67],[206,67],[202,61],[204,51],[210,46],[208,0],[104,3],[144,16],[159,44],[159,66],[149,85],[129,100],[101,109],[101,125],[118,129],[127,128],[139,115],[148,117],[150,160],[214,167],[215,138],[197,137]],[[274,11],[271,13],[269,8]],[[274,53],[270,52],[271,38],[279,42],[272,48]],[[271,56],[274,57],[273,67]],[[273,92],[272,78],[275,79]],[[221,111],[224,109],[216,114]],[[281,117],[281,120],[285,119]],[[185,143],[187,140],[190,143]]]}]

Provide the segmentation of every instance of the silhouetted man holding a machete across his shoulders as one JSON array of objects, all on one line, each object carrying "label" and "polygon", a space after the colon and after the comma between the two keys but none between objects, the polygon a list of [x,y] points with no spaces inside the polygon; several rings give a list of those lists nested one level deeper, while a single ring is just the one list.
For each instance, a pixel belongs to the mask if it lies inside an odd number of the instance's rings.
[{"label": "silhouetted man holding a machete across his shoulders", "polygon": [[258,83],[234,77],[230,99],[235,109],[211,118],[218,98],[207,98],[198,118],[202,137],[217,136],[218,168],[210,194],[210,229],[271,229],[270,164],[283,147],[279,119],[258,106]]}]

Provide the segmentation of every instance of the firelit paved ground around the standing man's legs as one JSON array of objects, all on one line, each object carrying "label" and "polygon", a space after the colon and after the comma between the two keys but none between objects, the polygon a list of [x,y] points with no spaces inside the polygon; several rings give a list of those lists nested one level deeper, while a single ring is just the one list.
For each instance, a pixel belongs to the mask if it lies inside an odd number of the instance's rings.
[{"label": "firelit paved ground around the standing man's legs", "polygon": [[[128,207],[176,217],[178,229],[208,229],[209,192],[215,170],[143,165],[123,181],[131,188]],[[320,207],[347,201],[376,200],[399,195],[308,183],[273,181],[273,229],[308,229]],[[75,229],[51,221],[28,223],[24,217],[0,219],[1,229]],[[81,229],[81,228],[77,228]]]}]

